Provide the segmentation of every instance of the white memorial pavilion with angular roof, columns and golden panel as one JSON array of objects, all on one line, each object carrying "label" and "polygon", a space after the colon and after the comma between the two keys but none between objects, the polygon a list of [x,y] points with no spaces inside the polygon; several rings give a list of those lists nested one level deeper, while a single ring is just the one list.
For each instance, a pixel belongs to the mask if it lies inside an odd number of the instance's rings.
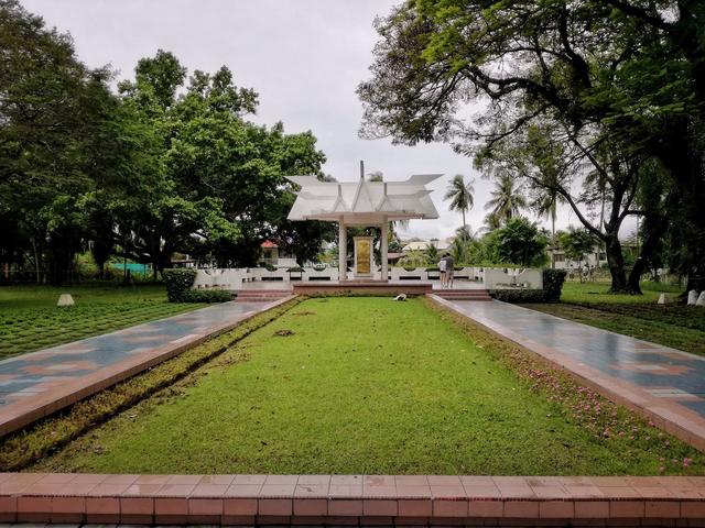
[{"label": "white memorial pavilion with angular roof, columns and golden panel", "polygon": [[[360,162],[358,182],[321,182],[316,176],[289,176],[301,187],[289,213],[290,220],[338,222],[338,280],[347,273],[347,228],[379,228],[381,239],[381,280],[388,279],[389,222],[436,219],[436,210],[426,185],[442,174],[415,174],[405,182],[368,182]],[[372,238],[355,237],[352,277],[373,279]]]}]

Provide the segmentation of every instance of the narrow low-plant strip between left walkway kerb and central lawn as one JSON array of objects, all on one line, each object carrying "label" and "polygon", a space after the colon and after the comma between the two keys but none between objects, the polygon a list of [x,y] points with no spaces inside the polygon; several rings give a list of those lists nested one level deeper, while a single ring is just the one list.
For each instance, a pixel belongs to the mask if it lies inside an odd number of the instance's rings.
[{"label": "narrow low-plant strip between left walkway kerb and central lawn", "polygon": [[132,407],[162,388],[170,387],[204,362],[221,354],[229,346],[274,320],[297,302],[299,299],[292,299],[254,316],[229,332],[182,352],[176,358],[115,387],[78,402],[68,410],[6,437],[0,444],[0,471],[17,471],[25,468],[112,417],[116,413]]}]

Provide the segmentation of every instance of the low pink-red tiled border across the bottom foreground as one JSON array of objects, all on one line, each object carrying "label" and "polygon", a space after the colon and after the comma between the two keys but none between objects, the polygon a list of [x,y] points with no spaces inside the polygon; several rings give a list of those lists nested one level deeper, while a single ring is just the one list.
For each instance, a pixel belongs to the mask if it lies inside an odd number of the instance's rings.
[{"label": "low pink-red tiled border across the bottom foreground", "polygon": [[0,474],[2,522],[705,526],[705,477]]}]

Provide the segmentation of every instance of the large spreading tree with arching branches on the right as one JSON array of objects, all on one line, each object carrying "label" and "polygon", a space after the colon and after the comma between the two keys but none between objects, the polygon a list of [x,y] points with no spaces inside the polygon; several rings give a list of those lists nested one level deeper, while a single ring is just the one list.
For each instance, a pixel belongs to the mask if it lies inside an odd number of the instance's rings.
[{"label": "large spreading tree with arching branches on the right", "polygon": [[[697,0],[405,3],[378,21],[373,79],[358,89],[362,133],[412,144],[453,141],[474,154],[478,143],[491,148],[538,120],[558,127],[579,154],[576,163],[597,162],[601,176],[587,190],[612,178],[616,216],[596,231],[609,239],[615,290],[627,289],[615,228],[631,213],[637,178],[621,165],[657,156],[688,211],[688,280],[703,282],[704,19]],[[480,97],[491,105],[463,119],[460,102]]]}]

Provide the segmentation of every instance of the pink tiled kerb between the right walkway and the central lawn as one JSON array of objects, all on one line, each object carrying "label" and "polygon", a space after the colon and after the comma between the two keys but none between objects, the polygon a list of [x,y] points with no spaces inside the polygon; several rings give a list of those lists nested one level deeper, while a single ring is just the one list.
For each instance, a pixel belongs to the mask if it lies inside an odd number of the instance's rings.
[{"label": "pink tiled kerb between the right walkway and the central lawn", "polygon": [[[647,394],[641,387],[629,384],[623,380],[614,378],[603,372],[592,369],[584,363],[573,360],[562,354],[555,349],[536,343],[525,337],[513,332],[510,328],[497,328],[497,324],[489,326],[489,321],[482,318],[473,318],[468,314],[454,306],[452,301],[440,298],[436,295],[427,296],[437,306],[457,314],[469,321],[481,326],[491,334],[510,341],[512,344],[538,356],[549,364],[562,369],[573,376],[578,383],[598,392],[606,398],[636,410],[654,426],[665,432],[690,443],[699,451],[705,451],[705,420],[697,414],[674,405],[663,399],[655,398]],[[500,302],[495,300],[495,302]],[[528,308],[522,308],[528,309]],[[555,316],[550,316],[555,317]],[[575,324],[582,324],[575,322]],[[607,330],[605,330],[607,331]],[[611,333],[611,332],[610,332]]]}]

